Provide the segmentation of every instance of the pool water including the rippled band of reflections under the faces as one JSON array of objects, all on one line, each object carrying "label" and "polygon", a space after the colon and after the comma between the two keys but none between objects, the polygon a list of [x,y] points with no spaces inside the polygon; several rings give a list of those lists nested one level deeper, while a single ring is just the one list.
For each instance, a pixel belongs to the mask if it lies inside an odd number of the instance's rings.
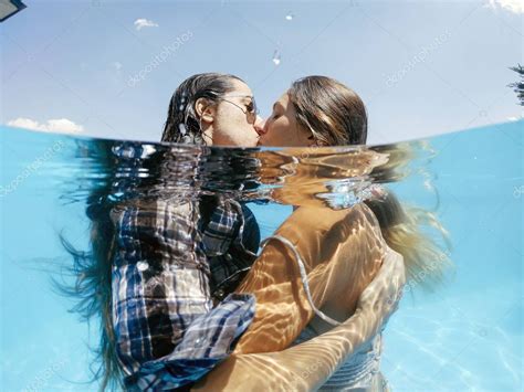
[{"label": "pool water including the rippled band of reflections under the faces", "polygon": [[[385,331],[396,391],[523,388],[523,126],[469,129],[370,149],[232,149],[101,140],[1,127],[1,379],[6,391],[94,390],[97,324],[78,319],[51,277],[71,263],[62,232],[87,248],[85,199],[222,193],[248,202],[262,237],[292,205],[348,208],[374,183],[433,211],[451,234],[454,275],[434,293],[408,282]],[[411,151],[395,181],[361,170]],[[404,153],[404,152],[402,152]],[[134,193],[135,192],[135,193]],[[66,277],[65,277],[66,278]]]}]

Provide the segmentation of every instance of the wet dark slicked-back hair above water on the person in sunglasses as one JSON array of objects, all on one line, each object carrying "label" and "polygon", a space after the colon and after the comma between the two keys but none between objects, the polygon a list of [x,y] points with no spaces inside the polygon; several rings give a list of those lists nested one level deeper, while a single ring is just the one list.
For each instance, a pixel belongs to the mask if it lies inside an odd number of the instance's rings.
[{"label": "wet dark slicked-back hair above water on the person in sunglasses", "polygon": [[216,103],[233,91],[233,80],[245,83],[238,76],[220,73],[197,74],[185,80],[169,102],[161,141],[206,145],[195,104],[199,98]]}]

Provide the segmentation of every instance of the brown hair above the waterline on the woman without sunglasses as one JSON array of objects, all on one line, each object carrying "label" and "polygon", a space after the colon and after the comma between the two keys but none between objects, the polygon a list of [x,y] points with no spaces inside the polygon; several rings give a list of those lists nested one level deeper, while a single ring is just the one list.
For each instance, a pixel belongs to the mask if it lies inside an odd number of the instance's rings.
[{"label": "brown hair above the waterline on the woman without sunglasses", "polygon": [[349,87],[327,76],[306,76],[287,91],[296,120],[324,146],[365,145],[366,106]]}]

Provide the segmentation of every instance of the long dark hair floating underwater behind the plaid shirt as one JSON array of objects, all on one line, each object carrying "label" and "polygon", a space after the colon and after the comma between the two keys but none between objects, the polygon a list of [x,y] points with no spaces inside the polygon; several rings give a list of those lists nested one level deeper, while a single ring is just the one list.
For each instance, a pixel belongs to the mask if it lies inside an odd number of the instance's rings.
[{"label": "long dark hair floating underwater behind the plaid shirt", "polygon": [[[76,299],[71,312],[80,315],[82,321],[96,320],[98,322],[99,341],[93,349],[95,354],[90,364],[92,379],[88,382],[99,381],[98,391],[123,390],[124,373],[118,363],[115,346],[115,333],[112,318],[112,262],[115,252],[115,229],[109,216],[113,203],[107,195],[112,192],[112,179],[116,177],[116,161],[111,145],[104,140],[93,140],[90,149],[82,149],[84,158],[96,159],[99,172],[107,174],[103,181],[94,181],[87,195],[85,213],[90,220],[90,248],[76,248],[60,233],[60,241],[64,250],[73,257],[73,262],[63,273],[73,277],[54,282],[54,287],[66,297]],[[91,388],[94,390],[94,388]]]}]

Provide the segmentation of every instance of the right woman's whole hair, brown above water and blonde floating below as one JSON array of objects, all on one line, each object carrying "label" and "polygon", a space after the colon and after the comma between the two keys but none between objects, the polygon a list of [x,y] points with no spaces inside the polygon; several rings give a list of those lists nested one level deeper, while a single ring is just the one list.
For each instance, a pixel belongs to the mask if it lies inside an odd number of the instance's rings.
[{"label": "right woman's whole hair, brown above water and blonde floating below", "polygon": [[[368,117],[361,98],[352,88],[327,76],[312,75],[295,81],[287,91],[296,112],[296,121],[311,130],[322,146],[365,145]],[[377,182],[396,182],[407,177],[413,157],[413,145],[396,144],[374,147],[389,155],[387,163],[374,169]],[[425,148],[428,146],[425,145]],[[388,245],[404,256],[408,285],[434,287],[451,266],[449,233],[438,216],[425,209],[401,203],[392,191],[367,200]],[[446,246],[422,232],[423,226],[437,230]]]}]

